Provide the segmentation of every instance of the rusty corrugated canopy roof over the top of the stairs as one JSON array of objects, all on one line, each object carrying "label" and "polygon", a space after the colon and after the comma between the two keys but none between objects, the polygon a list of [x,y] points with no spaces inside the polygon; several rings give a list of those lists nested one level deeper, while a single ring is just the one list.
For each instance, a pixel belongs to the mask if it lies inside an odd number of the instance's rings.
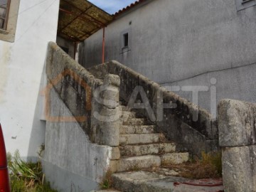
[{"label": "rusty corrugated canopy roof over the top of the stairs", "polygon": [[89,1],[60,0],[58,36],[81,42],[112,20],[113,16]]}]

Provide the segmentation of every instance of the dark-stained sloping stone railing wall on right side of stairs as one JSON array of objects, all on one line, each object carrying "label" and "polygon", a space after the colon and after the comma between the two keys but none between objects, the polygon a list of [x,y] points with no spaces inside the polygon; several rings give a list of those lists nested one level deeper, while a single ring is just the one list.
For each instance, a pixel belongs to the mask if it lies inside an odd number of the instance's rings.
[{"label": "dark-stained sloping stone railing wall on right side of stairs", "polygon": [[[168,139],[179,144],[181,149],[187,149],[198,156],[201,156],[202,151],[217,149],[217,123],[206,110],[193,105],[117,61],[96,65],[88,70],[100,79],[108,73],[119,75],[121,79],[119,94],[126,102],[129,102],[135,87],[143,87],[155,117],[159,113],[157,105],[176,104],[174,109],[164,109],[161,114],[164,118],[156,119],[154,123],[158,126],[159,132],[163,132]],[[159,95],[163,97],[162,103],[159,103]],[[195,114],[196,120],[193,119]]]}]

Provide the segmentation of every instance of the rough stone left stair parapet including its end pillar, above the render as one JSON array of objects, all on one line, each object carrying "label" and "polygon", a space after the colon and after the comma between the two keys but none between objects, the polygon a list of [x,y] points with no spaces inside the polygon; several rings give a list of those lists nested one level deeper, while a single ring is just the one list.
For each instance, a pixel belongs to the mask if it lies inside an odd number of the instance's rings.
[{"label": "rough stone left stair parapet including its end pillar, above the render", "polygon": [[[105,74],[104,80],[95,78],[55,43],[48,46],[46,75],[48,90],[53,87],[73,114],[73,117],[52,117],[50,109],[46,107],[48,120],[75,119],[91,142],[119,145],[119,119],[109,121],[113,114],[119,115],[120,80],[117,75]],[[95,92],[98,93],[96,96]],[[50,102],[47,99],[46,102]]]}]

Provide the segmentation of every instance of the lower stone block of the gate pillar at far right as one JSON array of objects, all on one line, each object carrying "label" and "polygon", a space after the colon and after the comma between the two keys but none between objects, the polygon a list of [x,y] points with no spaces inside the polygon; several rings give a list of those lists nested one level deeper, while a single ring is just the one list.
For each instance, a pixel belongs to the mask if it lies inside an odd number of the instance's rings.
[{"label": "lower stone block of the gate pillar at far right", "polygon": [[256,191],[256,146],[223,148],[223,185],[227,192]]}]

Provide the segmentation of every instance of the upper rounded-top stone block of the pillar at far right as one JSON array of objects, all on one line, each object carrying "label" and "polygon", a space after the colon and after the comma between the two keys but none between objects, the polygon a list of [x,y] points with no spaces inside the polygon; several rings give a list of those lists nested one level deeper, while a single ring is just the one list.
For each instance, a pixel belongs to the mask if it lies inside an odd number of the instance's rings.
[{"label": "upper rounded-top stone block of the pillar at far right", "polygon": [[222,100],[218,105],[220,146],[256,144],[256,105],[238,100]]}]

